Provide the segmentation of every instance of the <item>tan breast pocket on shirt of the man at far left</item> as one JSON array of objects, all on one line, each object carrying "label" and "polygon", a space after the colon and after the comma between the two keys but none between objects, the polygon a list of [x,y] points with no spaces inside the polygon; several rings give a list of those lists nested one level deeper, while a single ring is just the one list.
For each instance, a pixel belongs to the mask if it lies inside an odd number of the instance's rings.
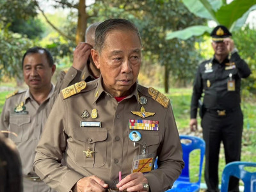
[{"label": "tan breast pocket on shirt of the man at far left", "polygon": [[9,138],[15,143],[28,140],[30,115],[10,115],[10,133]]}]

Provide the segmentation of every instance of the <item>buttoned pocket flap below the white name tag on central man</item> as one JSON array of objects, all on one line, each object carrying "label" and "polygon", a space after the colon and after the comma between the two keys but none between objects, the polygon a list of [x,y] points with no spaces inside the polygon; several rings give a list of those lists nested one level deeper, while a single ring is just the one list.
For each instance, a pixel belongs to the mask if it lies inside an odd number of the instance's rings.
[{"label": "buttoned pocket flap below the white name tag on central man", "polygon": [[80,128],[74,129],[74,138],[86,143],[104,141],[108,138],[108,130],[104,128]]}]

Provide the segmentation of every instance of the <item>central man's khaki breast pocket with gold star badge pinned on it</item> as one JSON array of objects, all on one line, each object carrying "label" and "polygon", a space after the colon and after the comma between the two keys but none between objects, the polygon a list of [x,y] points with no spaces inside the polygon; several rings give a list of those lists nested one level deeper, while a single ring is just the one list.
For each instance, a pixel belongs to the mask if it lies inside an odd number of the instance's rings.
[{"label": "central man's khaki breast pocket with gold star badge pinned on it", "polygon": [[[77,165],[86,168],[99,168],[103,166],[106,163],[107,157],[107,138],[108,130],[104,128],[74,129]],[[88,152],[92,154],[91,157],[88,157]]]}]

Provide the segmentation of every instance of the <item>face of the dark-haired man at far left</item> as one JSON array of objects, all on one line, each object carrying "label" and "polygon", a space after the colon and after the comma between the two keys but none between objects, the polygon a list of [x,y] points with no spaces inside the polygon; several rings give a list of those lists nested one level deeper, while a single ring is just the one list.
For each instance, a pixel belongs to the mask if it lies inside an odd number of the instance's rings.
[{"label": "face of the dark-haired man at far left", "polygon": [[49,66],[45,53],[27,54],[23,63],[24,81],[29,89],[44,90],[45,86],[51,86],[55,68]]}]

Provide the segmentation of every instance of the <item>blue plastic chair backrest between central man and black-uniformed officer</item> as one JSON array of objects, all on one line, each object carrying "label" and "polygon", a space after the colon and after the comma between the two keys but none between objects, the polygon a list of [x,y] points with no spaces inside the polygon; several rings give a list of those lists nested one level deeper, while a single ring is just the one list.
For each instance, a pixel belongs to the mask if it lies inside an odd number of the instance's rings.
[{"label": "blue plastic chair backrest between central man and black-uniformed officer", "polygon": [[202,168],[204,164],[204,154],[205,154],[205,141],[201,138],[196,136],[187,136],[187,135],[180,135],[180,141],[188,140],[187,143],[181,143],[182,150],[183,150],[183,161],[185,166],[180,174],[180,177],[175,181],[176,183],[179,182],[190,182],[189,180],[189,154],[196,149],[200,149],[200,164],[199,164],[199,173],[198,173],[198,181],[194,182],[193,184],[200,185],[201,177],[202,177]]}]

